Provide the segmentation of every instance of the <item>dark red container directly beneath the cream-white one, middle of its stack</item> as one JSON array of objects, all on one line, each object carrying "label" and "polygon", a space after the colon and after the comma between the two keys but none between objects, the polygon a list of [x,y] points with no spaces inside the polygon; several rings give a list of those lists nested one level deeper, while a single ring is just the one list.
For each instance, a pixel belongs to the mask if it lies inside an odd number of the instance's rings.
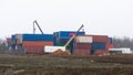
[{"label": "dark red container directly beneath the cream-white one, middle of its stack", "polygon": [[90,50],[90,43],[75,43],[75,50]]}]

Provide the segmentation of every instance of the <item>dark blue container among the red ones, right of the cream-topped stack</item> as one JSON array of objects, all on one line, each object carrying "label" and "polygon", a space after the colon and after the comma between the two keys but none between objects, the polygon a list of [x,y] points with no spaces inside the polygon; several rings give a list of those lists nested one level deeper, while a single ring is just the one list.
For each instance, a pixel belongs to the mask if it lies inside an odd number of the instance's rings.
[{"label": "dark blue container among the red ones, right of the cream-topped stack", "polygon": [[91,45],[92,45],[91,51],[106,49],[106,43],[104,43],[104,42],[93,42]]}]

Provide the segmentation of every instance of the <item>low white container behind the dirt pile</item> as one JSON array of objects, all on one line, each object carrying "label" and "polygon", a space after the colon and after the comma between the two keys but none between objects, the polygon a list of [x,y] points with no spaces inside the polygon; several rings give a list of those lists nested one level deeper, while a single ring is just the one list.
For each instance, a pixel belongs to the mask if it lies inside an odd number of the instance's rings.
[{"label": "low white container behind the dirt pile", "polygon": [[59,49],[65,51],[65,46],[44,46],[44,53],[53,53]]}]

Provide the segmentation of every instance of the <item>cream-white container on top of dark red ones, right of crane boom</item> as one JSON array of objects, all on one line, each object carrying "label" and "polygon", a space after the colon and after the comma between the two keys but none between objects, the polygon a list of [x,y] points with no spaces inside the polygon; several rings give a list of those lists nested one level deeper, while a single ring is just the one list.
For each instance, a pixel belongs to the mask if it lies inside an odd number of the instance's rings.
[{"label": "cream-white container on top of dark red ones, right of crane boom", "polygon": [[78,43],[92,43],[93,42],[92,36],[76,36],[75,40]]}]

